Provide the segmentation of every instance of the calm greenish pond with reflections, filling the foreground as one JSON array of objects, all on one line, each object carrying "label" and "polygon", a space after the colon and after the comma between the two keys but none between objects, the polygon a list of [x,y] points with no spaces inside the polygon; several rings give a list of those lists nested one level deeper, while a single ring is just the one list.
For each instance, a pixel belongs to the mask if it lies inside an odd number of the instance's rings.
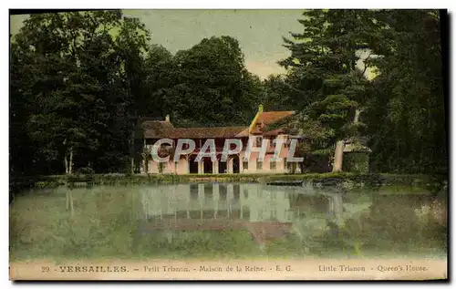
[{"label": "calm greenish pond with reflections, filling the foreground", "polygon": [[42,189],[10,208],[10,256],[369,258],[447,254],[447,195],[194,183]]}]

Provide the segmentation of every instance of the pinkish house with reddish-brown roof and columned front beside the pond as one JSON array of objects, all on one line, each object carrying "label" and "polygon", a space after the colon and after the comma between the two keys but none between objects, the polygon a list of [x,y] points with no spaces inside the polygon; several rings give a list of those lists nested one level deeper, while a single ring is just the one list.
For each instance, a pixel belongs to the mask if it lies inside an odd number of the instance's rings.
[{"label": "pinkish house with reddish-brown roof and columned front beside the pond", "polygon": [[[249,126],[244,127],[216,127],[216,128],[174,128],[170,118],[165,120],[145,120],[141,123],[142,132],[137,139],[141,140],[143,153],[140,159],[141,173],[285,173],[291,166],[287,163],[290,139],[293,137],[280,128],[280,123],[295,114],[295,111],[263,111],[263,106],[258,108],[254,119]],[[286,120],[285,120],[286,121]],[[278,126],[278,128],[275,128]],[[158,162],[151,157],[151,148],[159,139],[172,139],[172,145],[161,146],[159,155],[170,156],[167,162]],[[195,150],[186,155],[181,155],[179,160],[173,160],[174,150],[178,139],[192,139]],[[217,158],[212,161],[205,157],[195,162],[198,153],[206,139],[214,139]],[[225,139],[240,139],[243,150],[222,160],[222,151]],[[268,146],[264,161],[259,161],[259,152],[252,152],[248,160],[244,160],[245,151],[249,141],[259,149],[264,139],[268,139]],[[284,145],[279,153],[282,160],[271,160],[275,154],[274,139],[282,139]]]}]

